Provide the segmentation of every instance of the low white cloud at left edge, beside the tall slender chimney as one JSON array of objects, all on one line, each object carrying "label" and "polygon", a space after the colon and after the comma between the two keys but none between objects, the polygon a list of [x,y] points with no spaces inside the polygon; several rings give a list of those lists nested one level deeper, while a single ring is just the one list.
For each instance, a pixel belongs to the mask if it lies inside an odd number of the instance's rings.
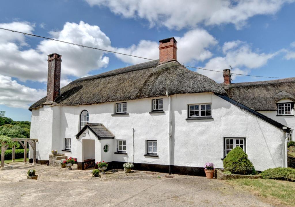
[{"label": "low white cloud at left edge, beside the tall slender chimney", "polygon": [[34,89],[17,83],[11,77],[0,74],[0,104],[27,109],[30,104],[43,98],[46,90]]}]

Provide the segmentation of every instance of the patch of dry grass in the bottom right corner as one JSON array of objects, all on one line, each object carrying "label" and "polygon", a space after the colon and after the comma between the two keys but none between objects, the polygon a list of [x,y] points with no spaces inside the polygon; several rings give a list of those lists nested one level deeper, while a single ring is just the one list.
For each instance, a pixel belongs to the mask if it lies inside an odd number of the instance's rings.
[{"label": "patch of dry grass in the bottom right corner", "polygon": [[231,186],[245,189],[257,196],[282,203],[286,206],[295,206],[295,183],[282,180],[264,179],[233,179],[226,180]]}]

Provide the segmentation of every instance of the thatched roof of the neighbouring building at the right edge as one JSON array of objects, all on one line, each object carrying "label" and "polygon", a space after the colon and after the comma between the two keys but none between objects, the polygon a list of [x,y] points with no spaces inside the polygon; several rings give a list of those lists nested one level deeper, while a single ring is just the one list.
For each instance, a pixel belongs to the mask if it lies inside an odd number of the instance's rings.
[{"label": "thatched roof of the neighbouring building at the right edge", "polygon": [[227,95],[256,111],[277,110],[281,99],[295,101],[295,77],[279,80],[232,83],[225,89]]}]

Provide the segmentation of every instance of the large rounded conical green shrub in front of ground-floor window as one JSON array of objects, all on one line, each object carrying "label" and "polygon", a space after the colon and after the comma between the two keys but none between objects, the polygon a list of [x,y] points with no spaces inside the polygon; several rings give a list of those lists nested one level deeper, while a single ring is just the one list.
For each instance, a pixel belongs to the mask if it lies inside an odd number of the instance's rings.
[{"label": "large rounded conical green shrub in front of ground-floor window", "polygon": [[248,155],[240,147],[232,149],[223,160],[224,171],[230,171],[232,174],[256,175],[257,172]]}]

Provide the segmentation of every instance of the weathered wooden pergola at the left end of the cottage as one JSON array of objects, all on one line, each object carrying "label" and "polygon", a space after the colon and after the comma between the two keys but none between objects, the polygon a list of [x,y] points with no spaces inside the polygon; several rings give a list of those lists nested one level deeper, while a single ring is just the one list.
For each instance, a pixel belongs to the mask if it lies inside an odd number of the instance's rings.
[{"label": "weathered wooden pergola at the left end of the cottage", "polygon": [[[12,141],[19,142],[22,147],[24,148],[24,165],[27,164],[27,143],[29,143],[33,149],[33,163],[32,165],[36,165],[36,143],[38,139],[19,139],[19,138],[12,138]],[[1,149],[1,170],[4,170],[4,151],[8,148],[8,146],[2,146]],[[15,162],[15,145],[12,147],[12,162]]]}]

